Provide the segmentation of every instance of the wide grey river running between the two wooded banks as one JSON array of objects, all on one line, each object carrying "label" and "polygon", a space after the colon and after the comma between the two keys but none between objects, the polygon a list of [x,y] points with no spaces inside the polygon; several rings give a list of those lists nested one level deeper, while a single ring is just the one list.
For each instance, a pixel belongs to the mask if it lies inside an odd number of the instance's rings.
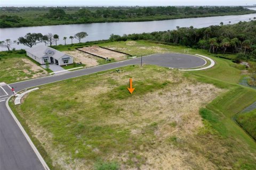
[{"label": "wide grey river running between the two wooded banks", "polygon": [[[108,39],[111,33],[115,35],[123,35],[129,33],[142,33],[173,30],[179,27],[194,28],[209,27],[210,25],[219,25],[220,22],[228,24],[237,23],[239,21],[249,21],[253,19],[256,14],[246,15],[228,15],[228,16],[211,16],[205,18],[188,18],[188,19],[175,19],[164,21],[147,21],[147,22],[109,22],[109,23],[88,23],[88,24],[68,24],[68,25],[52,25],[52,26],[39,26],[39,27],[20,27],[20,28],[2,28],[0,29],[0,40],[11,39],[17,40],[19,37],[25,36],[26,33],[53,33],[59,35],[57,44],[64,44],[63,37],[67,37],[67,44],[71,44],[69,36],[74,36],[77,32],[85,31],[89,36],[82,39],[82,42]],[[74,39],[73,43],[78,43]],[[27,46],[13,44],[12,47],[16,49],[26,49]],[[7,48],[0,48],[0,50],[7,50]]]}]

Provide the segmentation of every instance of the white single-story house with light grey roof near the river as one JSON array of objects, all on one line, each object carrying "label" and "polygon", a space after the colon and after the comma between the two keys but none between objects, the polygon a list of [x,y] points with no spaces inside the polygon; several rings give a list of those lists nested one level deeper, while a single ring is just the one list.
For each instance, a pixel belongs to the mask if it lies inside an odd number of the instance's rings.
[{"label": "white single-story house with light grey roof near the river", "polygon": [[73,64],[73,57],[47,46],[36,46],[25,49],[27,56],[40,64],[55,63],[57,65]]}]

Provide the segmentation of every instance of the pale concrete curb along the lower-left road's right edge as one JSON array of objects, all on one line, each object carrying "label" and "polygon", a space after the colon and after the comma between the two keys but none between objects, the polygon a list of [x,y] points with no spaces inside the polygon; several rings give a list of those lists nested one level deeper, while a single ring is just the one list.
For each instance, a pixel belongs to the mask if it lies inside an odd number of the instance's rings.
[{"label": "pale concrete curb along the lower-left road's right edge", "polygon": [[25,136],[25,138],[27,139],[29,145],[31,146],[31,148],[34,150],[37,158],[39,159],[39,161],[41,162],[41,164],[43,165],[45,170],[50,170],[50,168],[48,167],[48,165],[46,164],[46,162],[44,161],[43,157],[41,156],[41,154],[39,153],[39,151],[36,149],[36,146],[34,145],[34,143],[31,141],[31,139],[29,138],[29,135],[27,134],[27,132],[25,131],[25,129],[22,127],[22,125],[20,124],[18,118],[14,115],[14,113],[12,112],[12,109],[9,106],[9,100],[12,96],[10,96],[6,102],[5,105],[8,109],[8,111],[10,112],[10,114],[12,115],[14,121],[17,123],[17,125],[19,126],[21,132],[23,133],[23,135]]}]

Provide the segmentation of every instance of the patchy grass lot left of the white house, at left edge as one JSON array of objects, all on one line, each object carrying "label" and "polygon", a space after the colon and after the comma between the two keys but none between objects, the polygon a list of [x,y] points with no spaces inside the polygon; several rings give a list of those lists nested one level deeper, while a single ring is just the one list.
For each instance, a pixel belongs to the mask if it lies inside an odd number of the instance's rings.
[{"label": "patchy grass lot left of the white house, at left edge", "polygon": [[30,61],[25,55],[0,56],[0,82],[12,83],[43,77],[47,72]]}]

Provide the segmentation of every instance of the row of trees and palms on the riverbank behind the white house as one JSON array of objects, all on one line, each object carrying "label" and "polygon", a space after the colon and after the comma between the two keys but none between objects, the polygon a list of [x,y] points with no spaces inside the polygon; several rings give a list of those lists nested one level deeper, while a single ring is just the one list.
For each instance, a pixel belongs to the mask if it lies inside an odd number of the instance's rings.
[{"label": "row of trees and palms on the riverbank behind the white house", "polygon": [[[86,36],[88,36],[86,32],[78,32],[74,36],[70,36],[69,39],[71,39],[71,44],[73,44],[74,38],[77,39],[79,43],[81,43],[81,40]],[[26,36],[18,38],[18,41],[17,40],[11,41],[11,39],[0,41],[0,47],[5,47],[10,51],[11,45],[15,43],[23,44],[30,48],[38,43],[45,43],[45,46],[47,44],[52,46],[55,43],[55,46],[57,46],[58,40],[59,40],[59,35],[57,34],[53,35],[52,33],[47,33],[46,35],[42,35],[42,33],[27,33]],[[66,45],[67,37],[63,37],[63,40],[65,41],[65,45]]]}]

